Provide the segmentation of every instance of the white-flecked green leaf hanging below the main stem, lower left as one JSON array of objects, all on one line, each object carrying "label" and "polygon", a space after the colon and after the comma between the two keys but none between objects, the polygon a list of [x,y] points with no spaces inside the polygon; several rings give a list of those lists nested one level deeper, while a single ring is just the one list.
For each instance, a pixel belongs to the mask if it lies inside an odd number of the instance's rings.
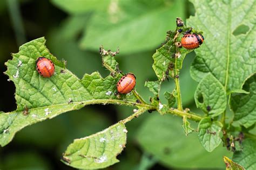
[{"label": "white-flecked green leaf hanging below the main stem, lower left", "polygon": [[118,161],[117,155],[126,144],[127,130],[123,123],[102,132],[74,140],[63,154],[62,161],[75,168],[105,168]]}]

